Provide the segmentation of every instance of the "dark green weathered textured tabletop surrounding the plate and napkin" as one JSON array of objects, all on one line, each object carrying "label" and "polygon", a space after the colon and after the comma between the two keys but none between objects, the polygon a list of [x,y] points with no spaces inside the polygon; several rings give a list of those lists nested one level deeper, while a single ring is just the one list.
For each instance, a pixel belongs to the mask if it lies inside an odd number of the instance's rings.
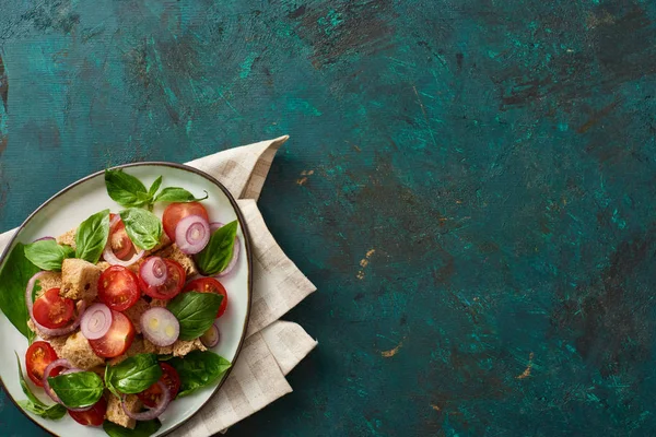
[{"label": "dark green weathered textured tabletop surrounding the plate and napkin", "polygon": [[[0,228],[108,165],[289,133],[260,208],[319,346],[229,435],[656,435],[654,21],[2,0]],[[1,397],[0,435],[39,432]]]}]

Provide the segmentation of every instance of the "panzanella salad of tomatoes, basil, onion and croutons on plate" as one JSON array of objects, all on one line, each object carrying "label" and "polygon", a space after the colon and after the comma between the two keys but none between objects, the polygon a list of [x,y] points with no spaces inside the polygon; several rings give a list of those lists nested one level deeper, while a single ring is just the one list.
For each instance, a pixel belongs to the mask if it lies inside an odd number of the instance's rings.
[{"label": "panzanella salad of tomatoes, basil, onion and croutons on plate", "polygon": [[[99,211],[58,238],[17,244],[0,271],[0,308],[30,341],[19,359],[21,406],[68,414],[110,436],[149,436],[176,398],[216,382],[230,362],[211,352],[227,307],[220,279],[239,256],[237,222],[211,222],[183,188],[147,189],[106,170],[124,210]],[[162,218],[156,202],[167,202]],[[39,340],[37,340],[39,338]]]}]

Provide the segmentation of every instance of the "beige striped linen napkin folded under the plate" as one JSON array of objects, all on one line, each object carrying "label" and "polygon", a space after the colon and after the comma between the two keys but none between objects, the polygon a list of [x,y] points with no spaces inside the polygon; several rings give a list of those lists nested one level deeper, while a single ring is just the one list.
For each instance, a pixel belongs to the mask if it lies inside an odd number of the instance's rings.
[{"label": "beige striped linen napkin folded under the plate", "polygon": [[[279,320],[316,288],[278,246],[256,204],[273,156],[288,138],[187,163],[219,179],[237,199],[253,243],[253,304],[247,339],[227,380],[176,436],[222,432],[291,392],[284,376],[317,345],[301,326]],[[13,233],[0,235],[0,251]]]}]

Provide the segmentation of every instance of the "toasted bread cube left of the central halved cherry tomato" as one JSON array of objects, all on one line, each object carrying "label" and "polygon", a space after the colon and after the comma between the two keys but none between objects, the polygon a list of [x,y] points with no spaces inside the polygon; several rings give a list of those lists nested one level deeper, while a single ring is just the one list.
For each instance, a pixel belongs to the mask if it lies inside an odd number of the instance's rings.
[{"label": "toasted bread cube left of the central halved cherry tomato", "polygon": [[98,277],[101,270],[91,262],[68,258],[61,263],[61,292],[62,297],[70,299],[84,299],[91,302],[98,293]]}]

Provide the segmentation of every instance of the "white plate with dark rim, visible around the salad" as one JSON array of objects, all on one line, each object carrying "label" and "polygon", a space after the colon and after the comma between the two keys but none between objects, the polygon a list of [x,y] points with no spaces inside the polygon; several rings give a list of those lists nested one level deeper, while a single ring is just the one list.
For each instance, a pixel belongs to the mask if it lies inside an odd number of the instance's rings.
[{"label": "white plate with dark rim, visible around the salad", "polygon": [[[229,223],[233,220],[239,221],[237,231],[239,244],[242,245],[239,260],[233,272],[221,279],[227,290],[229,305],[226,312],[219,319],[221,342],[213,349],[215,353],[231,361],[234,365],[246,334],[251,294],[250,245],[244,218],[237,209],[236,202],[218,180],[196,168],[171,163],[138,163],[117,168],[124,168],[126,173],[139,178],[147,187],[150,187],[157,176],[162,176],[162,187],[181,187],[196,197],[202,197],[203,191],[207,191],[209,199],[202,203],[208,210],[211,222]],[[77,227],[90,215],[107,208],[112,212],[121,210],[121,206],[107,196],[103,172],[77,181],[55,194],[21,225],[2,255],[0,269],[4,264],[7,255],[16,243],[28,244],[44,236],[61,235]],[[162,212],[163,205],[156,204],[154,213],[161,217]],[[1,312],[0,315],[0,379],[15,403],[15,401],[26,399],[26,397],[19,385],[14,351],[21,357],[24,370],[27,339],[11,324],[4,315]],[[161,417],[162,428],[155,436],[169,433],[191,417],[221,387],[226,377],[227,374],[216,385],[172,402]],[[30,380],[28,382],[31,383]],[[39,398],[47,400],[48,403],[51,402],[43,393],[43,389],[35,386],[32,386],[32,388],[35,393],[40,394]],[[24,413],[36,424],[56,436],[81,435],[82,433],[90,437],[106,436],[102,427],[82,426],[68,414],[60,421],[49,421],[28,412]]]}]

